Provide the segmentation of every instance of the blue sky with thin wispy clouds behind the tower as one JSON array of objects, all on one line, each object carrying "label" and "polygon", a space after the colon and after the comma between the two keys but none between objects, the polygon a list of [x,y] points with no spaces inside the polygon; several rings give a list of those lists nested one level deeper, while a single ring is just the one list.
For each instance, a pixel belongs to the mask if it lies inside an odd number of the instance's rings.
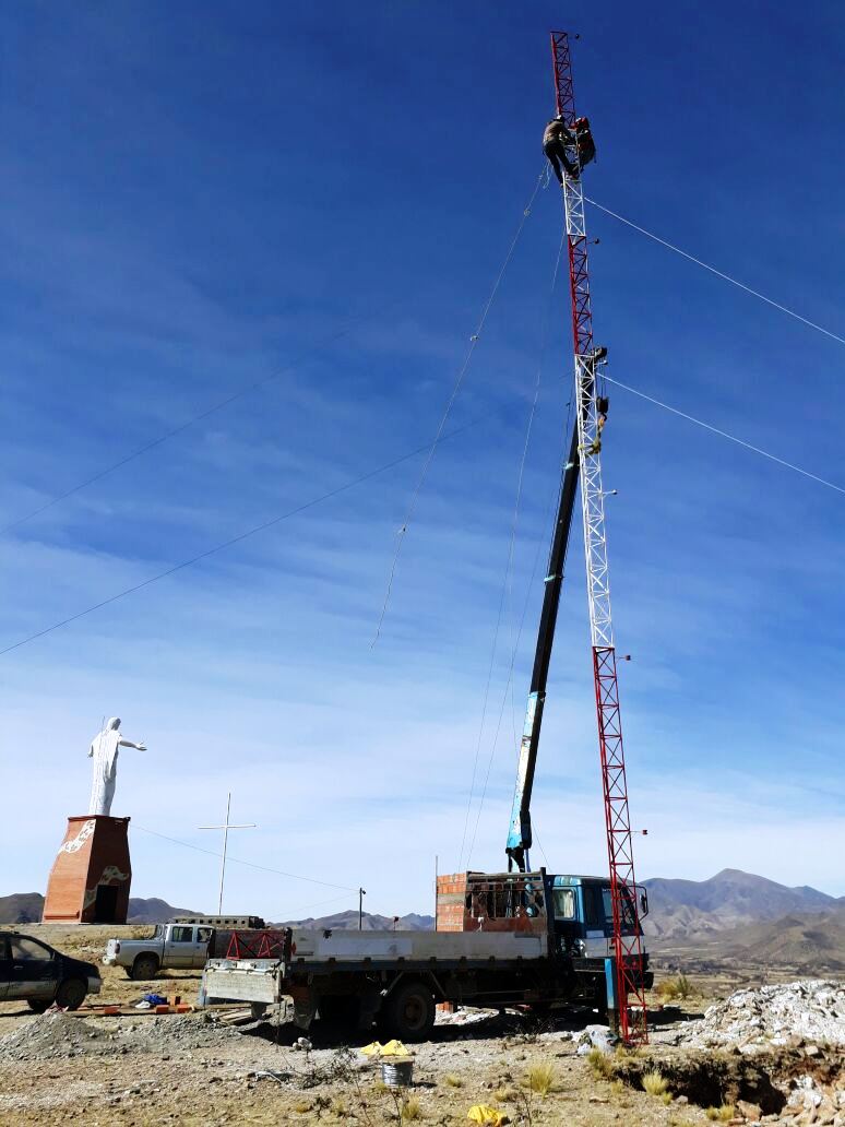
[{"label": "blue sky with thin wispy clouds behind the tower", "polygon": [[[279,374],[3,534],[2,646],[430,441],[542,168],[551,27],[581,36],[588,195],[845,334],[838,8],[593,7],[6,9],[2,523]],[[258,823],[234,857],[363,885],[374,911],[430,906],[435,855],[459,860],[551,310],[481,739],[472,863],[500,867],[571,372],[561,223],[541,192],[375,648],[419,456],[2,658],[21,798],[0,893],[44,888],[119,715],[149,744],[122,755],[113,810],[136,895],[212,906],[216,859],[148,831],[214,850],[196,827],[231,789]],[[608,373],[845,485],[843,346],[589,225]],[[842,496],[621,390],[603,456],[639,875],[845,894]],[[536,780],[533,859],[557,871],[606,864],[581,558],[578,535]],[[354,903],[230,867],[231,909]]]}]

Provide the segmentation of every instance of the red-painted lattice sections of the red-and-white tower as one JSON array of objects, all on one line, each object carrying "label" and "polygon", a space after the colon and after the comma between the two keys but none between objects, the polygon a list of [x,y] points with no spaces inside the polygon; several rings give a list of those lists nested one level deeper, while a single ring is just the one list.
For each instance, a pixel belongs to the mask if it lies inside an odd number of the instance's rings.
[{"label": "red-painted lattice sections of the red-and-white tower", "polygon": [[[552,32],[552,64],[558,113],[569,126],[575,125],[575,89],[569,37]],[[593,312],[589,295],[586,225],[570,233],[569,285],[572,301],[572,339],[576,356],[593,348]],[[584,488],[584,486],[581,486]],[[642,985],[642,943],[640,939],[637,881],[633,864],[631,822],[628,811],[625,755],[616,678],[616,653],[612,646],[593,647],[593,673],[596,690],[598,743],[602,757],[607,860],[613,900],[613,946],[616,957],[616,993],[620,1027],[625,1042],[648,1040],[648,1017]],[[622,934],[622,922],[631,914],[633,935]]]}]

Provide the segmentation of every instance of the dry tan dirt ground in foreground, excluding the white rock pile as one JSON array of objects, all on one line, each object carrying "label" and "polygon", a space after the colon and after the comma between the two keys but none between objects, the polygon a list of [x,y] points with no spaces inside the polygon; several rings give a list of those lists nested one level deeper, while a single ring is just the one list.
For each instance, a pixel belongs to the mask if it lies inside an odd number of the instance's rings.
[{"label": "dry tan dirt ground in foreground, excluding the white rock pile", "polygon": [[[19,930],[97,962],[106,939],[115,934],[114,928]],[[100,970],[100,1003],[126,1005],[148,990],[179,993],[192,1002],[199,985],[199,976],[187,971],[133,983],[123,970]],[[370,1037],[346,1037],[344,1045],[338,1030],[321,1029],[319,1022],[310,1035],[312,1048],[297,1050],[292,1044],[296,1032],[266,1023],[235,1028],[203,1013],[153,1017],[143,1011],[103,1018],[86,1015],[84,1009],[34,1017],[19,1003],[6,1003],[0,1004],[0,1124],[63,1124],[81,1116],[89,1127],[459,1124],[469,1121],[473,1104],[484,1103],[512,1124],[683,1127],[711,1122],[714,1112],[709,1118],[706,1107],[722,1093],[763,1092],[770,1066],[781,1075],[809,1072],[834,1082],[842,1061],[827,1049],[809,1057],[807,1047],[783,1048],[750,1061],[738,1050],[696,1056],[671,1045],[679,1023],[723,996],[721,985],[694,983],[699,995],[677,1011],[655,1010],[648,1048],[602,1061],[579,1056],[572,1039],[593,1020],[589,1015],[544,1028],[531,1028],[517,1014],[438,1026],[430,1041],[415,1046],[413,1086],[401,1099],[383,1088],[380,1066],[362,1055]],[[643,1091],[642,1076],[655,1067],[670,1077],[666,1095]],[[267,1071],[275,1076],[263,1076]],[[825,1121],[789,1111],[770,1108],[763,1121]],[[755,1121],[736,1112],[736,1102],[726,1106],[721,1121]]]}]

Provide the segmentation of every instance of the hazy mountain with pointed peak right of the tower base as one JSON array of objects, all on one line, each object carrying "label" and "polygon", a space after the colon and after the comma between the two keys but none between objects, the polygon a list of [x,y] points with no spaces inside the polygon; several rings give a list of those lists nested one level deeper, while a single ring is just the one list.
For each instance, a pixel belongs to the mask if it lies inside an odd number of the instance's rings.
[{"label": "hazy mountain with pointed peak right of the tower base", "polygon": [[740,869],[723,869],[708,880],[655,877],[642,884],[649,894],[644,931],[659,939],[701,939],[784,916],[804,919],[843,904],[807,885],[789,888]]}]

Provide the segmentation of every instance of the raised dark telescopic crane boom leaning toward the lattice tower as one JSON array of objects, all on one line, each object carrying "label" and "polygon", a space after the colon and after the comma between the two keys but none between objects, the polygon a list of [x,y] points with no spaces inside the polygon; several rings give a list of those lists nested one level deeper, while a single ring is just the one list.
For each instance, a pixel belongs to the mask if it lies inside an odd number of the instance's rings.
[{"label": "raised dark telescopic crane boom leaning toward the lattice tower", "polygon": [[569,545],[569,532],[572,527],[575,498],[578,491],[578,424],[572,426],[569,445],[569,458],[563,467],[558,500],[558,515],[552,534],[552,547],[549,552],[549,567],[545,575],[543,593],[543,610],[540,614],[537,645],[534,651],[534,669],[531,675],[528,707],[525,710],[523,738],[519,744],[519,762],[516,772],[516,790],[514,808],[510,814],[507,855],[508,869],[527,872],[530,869],[528,850],[532,845],[531,833],[531,796],[534,788],[534,767],[537,762],[540,729],[543,725],[543,707],[545,704],[545,686],[549,680],[549,664],[554,645],[554,627],[558,621],[560,593],[563,587],[563,567]]}]

